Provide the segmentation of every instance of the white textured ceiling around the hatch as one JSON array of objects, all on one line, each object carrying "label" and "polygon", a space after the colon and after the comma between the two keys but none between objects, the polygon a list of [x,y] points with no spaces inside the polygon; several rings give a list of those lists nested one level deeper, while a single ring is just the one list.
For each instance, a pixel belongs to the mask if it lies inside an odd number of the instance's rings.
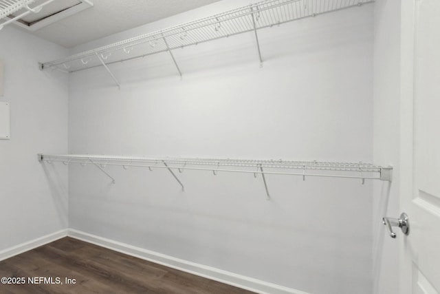
[{"label": "white textured ceiling around the hatch", "polygon": [[216,1],[219,0],[91,0],[94,7],[33,34],[72,48]]}]

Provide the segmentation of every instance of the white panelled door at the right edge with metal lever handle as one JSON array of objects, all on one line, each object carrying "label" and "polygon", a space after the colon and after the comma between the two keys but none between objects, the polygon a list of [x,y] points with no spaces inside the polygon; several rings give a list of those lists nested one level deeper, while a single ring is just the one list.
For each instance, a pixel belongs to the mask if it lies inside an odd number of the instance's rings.
[{"label": "white panelled door at the right edge with metal lever handle", "polygon": [[401,0],[399,293],[440,294],[440,0]]}]

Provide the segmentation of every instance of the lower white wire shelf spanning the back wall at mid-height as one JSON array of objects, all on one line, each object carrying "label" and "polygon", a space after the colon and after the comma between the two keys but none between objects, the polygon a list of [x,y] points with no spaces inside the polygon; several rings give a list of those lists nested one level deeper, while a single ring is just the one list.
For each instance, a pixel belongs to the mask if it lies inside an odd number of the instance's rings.
[{"label": "lower white wire shelf spanning the back wall at mid-height", "polygon": [[391,182],[393,167],[381,167],[365,162],[320,162],[320,161],[287,161],[287,160],[242,160],[230,158],[145,158],[132,156],[107,156],[107,155],[50,155],[38,154],[41,162],[62,162],[64,165],[80,164],[94,165],[104,174],[111,178],[104,168],[110,166],[128,167],[147,167],[153,169],[168,169],[173,177],[181,185],[184,185],[177,178],[174,171],[183,172],[186,169],[199,171],[212,171],[214,175],[219,172],[234,172],[254,174],[254,177],[261,174],[267,198],[270,198],[267,189],[265,175],[288,175],[306,177],[331,177],[331,178],[353,178],[362,180],[384,180]]}]

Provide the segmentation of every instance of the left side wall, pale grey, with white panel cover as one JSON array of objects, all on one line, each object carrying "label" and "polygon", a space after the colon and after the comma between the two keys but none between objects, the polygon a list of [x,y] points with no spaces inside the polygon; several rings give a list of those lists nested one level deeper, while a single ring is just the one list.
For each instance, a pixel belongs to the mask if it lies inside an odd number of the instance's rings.
[{"label": "left side wall, pale grey, with white panel cover", "polygon": [[36,156],[67,151],[67,76],[38,67],[65,54],[12,25],[0,32],[0,101],[11,105],[11,139],[0,140],[0,251],[67,228],[67,169],[45,169]]}]

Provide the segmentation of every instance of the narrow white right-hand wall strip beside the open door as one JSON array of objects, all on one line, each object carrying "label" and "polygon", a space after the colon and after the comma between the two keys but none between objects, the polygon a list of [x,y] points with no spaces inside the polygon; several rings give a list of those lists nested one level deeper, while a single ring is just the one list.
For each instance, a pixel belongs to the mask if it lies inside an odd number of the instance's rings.
[{"label": "narrow white right-hand wall strip beside the open door", "polygon": [[388,236],[382,217],[397,218],[400,156],[400,3],[375,3],[374,20],[374,161],[393,165],[393,183],[376,182],[373,197],[374,292],[399,291],[399,243]]}]

